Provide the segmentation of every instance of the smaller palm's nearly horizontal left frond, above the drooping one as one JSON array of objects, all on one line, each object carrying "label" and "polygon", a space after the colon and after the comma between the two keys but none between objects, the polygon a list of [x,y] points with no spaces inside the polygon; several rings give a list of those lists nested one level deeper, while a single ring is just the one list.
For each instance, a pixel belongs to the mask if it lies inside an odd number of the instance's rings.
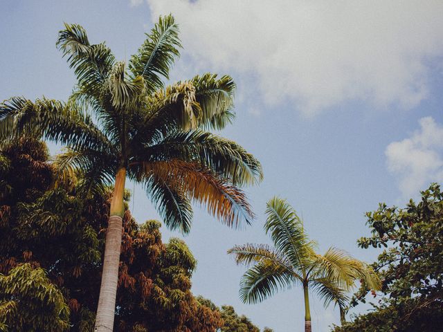
[{"label": "smaller palm's nearly horizontal left frond, above the drooping one", "polygon": [[228,250],[228,254],[235,255],[235,262],[245,266],[257,264],[260,262],[269,262],[269,264],[279,265],[282,270],[286,269],[287,273],[292,273],[294,277],[300,279],[301,277],[293,272],[291,262],[271,246],[266,244],[251,244],[246,243],[243,246],[234,246]]}]

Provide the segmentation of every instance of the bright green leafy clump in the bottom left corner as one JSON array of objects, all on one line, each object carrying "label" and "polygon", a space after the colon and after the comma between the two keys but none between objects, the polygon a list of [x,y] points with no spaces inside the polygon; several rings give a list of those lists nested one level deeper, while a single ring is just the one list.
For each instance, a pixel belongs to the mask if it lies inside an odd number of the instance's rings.
[{"label": "bright green leafy clump in the bottom left corner", "polygon": [[42,268],[22,264],[0,274],[0,331],[69,329],[69,307]]}]

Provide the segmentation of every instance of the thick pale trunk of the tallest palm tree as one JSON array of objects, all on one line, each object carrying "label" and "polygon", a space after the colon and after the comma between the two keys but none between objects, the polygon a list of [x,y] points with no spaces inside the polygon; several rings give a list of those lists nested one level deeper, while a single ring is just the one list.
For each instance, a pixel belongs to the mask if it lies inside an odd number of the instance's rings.
[{"label": "thick pale trunk of the tallest palm tree", "polygon": [[125,192],[126,169],[121,167],[116,174],[116,184],[111,199],[108,228],[105,242],[105,259],[103,261],[102,284],[96,315],[96,332],[109,332],[114,329],[116,295],[118,282],[118,265],[120,263],[120,246],[122,242],[122,221],[125,213],[123,193]]}]

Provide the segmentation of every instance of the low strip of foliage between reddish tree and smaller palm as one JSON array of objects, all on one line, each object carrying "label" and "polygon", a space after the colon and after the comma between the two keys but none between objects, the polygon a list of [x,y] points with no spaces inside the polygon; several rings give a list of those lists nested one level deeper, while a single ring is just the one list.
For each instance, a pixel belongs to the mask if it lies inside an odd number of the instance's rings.
[{"label": "low strip of foliage between reddish tree and smaller palm", "polygon": [[[213,311],[218,311],[221,314],[223,326],[221,326],[219,332],[260,332],[260,329],[255,326],[248,317],[245,315],[239,316],[233,306],[221,306],[221,308],[219,308],[209,299],[201,296],[197,297],[197,300]],[[273,332],[273,330],[265,327],[263,332]]]}]

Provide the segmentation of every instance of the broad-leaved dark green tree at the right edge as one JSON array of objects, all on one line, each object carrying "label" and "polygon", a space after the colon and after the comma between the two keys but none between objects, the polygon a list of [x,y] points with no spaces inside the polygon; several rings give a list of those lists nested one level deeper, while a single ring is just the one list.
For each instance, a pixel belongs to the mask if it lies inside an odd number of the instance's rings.
[{"label": "broad-leaved dark green tree at the right edge", "polygon": [[[374,311],[335,331],[440,331],[443,326],[443,193],[433,184],[406,208],[380,204],[366,214],[372,236],[361,248],[385,248],[372,264],[383,281]],[[365,302],[361,288],[352,304]]]}]

